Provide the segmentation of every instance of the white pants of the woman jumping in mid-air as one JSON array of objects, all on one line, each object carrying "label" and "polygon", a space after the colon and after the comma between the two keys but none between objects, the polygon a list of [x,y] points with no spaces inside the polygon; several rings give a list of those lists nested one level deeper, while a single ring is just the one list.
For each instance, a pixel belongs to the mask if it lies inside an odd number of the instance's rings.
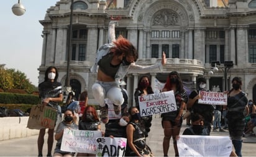
[{"label": "white pants of the woman jumping in mid-air", "polygon": [[105,106],[106,98],[114,102],[115,105],[122,105],[124,103],[121,89],[116,82],[96,81],[91,88],[93,89],[94,99],[101,107]]}]

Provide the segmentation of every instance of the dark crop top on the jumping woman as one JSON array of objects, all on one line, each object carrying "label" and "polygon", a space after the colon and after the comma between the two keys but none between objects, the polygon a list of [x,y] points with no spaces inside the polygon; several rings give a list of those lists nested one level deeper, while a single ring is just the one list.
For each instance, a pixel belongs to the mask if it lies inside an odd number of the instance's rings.
[{"label": "dark crop top on the jumping woman", "polygon": [[114,57],[112,53],[107,53],[107,55],[103,56],[101,60],[98,61],[99,69],[103,71],[107,76],[111,76],[111,78],[115,78],[117,70],[119,69],[119,65],[111,65],[111,60]]}]

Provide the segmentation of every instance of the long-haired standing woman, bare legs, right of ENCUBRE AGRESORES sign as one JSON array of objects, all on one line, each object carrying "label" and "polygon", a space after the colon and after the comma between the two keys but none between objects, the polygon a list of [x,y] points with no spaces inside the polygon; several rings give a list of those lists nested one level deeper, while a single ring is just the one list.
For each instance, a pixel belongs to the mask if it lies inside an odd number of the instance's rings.
[{"label": "long-haired standing woman, bare legs, right of ENCUBRE AGRESORES sign", "polygon": [[186,102],[188,101],[180,74],[176,71],[172,71],[168,74],[167,82],[165,83],[162,91],[165,92],[171,90],[175,93],[177,110],[163,113],[161,115],[163,133],[165,135],[163,138],[163,156],[168,156],[171,137],[173,138],[175,156],[178,156],[176,135],[179,135],[180,133],[183,109],[185,109]]}]

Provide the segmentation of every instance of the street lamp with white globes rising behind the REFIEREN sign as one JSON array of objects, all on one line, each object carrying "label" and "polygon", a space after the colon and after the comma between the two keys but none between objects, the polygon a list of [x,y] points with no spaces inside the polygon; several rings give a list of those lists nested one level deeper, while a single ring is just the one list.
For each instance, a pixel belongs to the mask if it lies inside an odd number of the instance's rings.
[{"label": "street lamp with white globes rising behind the REFIEREN sign", "polygon": [[212,61],[211,66],[213,67],[212,71],[209,71],[208,74],[212,75],[219,71],[219,68],[224,72],[224,79],[225,79],[225,91],[227,91],[227,72],[229,71],[230,68],[234,66],[233,61],[224,61],[224,66],[219,63],[219,61]]}]

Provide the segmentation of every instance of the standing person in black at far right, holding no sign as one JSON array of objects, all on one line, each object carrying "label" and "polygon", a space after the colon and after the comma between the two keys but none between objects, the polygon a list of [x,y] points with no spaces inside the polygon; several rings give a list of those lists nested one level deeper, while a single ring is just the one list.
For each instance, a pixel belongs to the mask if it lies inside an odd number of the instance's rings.
[{"label": "standing person in black at far right, holding no sign", "polygon": [[242,79],[232,79],[232,89],[227,93],[227,121],[229,123],[229,136],[237,156],[242,156],[242,136],[245,127],[244,109],[248,102],[245,92],[241,90]]}]

